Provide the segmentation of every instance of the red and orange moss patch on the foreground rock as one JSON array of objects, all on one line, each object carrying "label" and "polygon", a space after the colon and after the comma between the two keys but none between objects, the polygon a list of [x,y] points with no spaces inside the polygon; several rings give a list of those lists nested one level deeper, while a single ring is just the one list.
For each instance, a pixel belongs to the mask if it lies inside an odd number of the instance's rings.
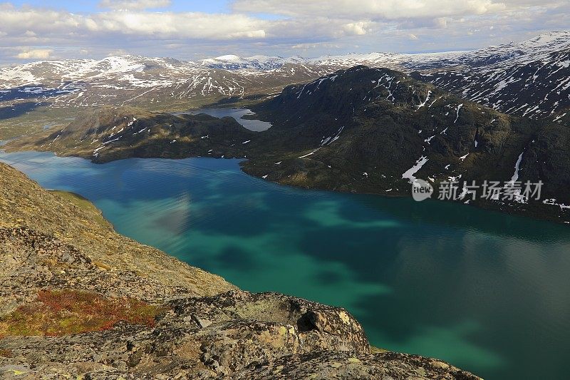
[{"label": "red and orange moss patch on the foreground rock", "polygon": [[111,329],[117,322],[155,325],[161,307],[130,298],[108,298],[75,290],[47,290],[36,302],[0,317],[0,338],[43,335],[60,337]]}]

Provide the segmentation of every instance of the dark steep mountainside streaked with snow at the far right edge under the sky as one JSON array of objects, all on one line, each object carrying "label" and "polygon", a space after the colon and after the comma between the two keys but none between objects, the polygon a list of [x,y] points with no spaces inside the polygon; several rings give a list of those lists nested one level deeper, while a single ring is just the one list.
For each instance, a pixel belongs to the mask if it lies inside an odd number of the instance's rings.
[{"label": "dark steep mountainside streaked with snow at the far right edge under the sky", "polygon": [[515,115],[570,124],[570,31],[492,46],[415,78]]}]

